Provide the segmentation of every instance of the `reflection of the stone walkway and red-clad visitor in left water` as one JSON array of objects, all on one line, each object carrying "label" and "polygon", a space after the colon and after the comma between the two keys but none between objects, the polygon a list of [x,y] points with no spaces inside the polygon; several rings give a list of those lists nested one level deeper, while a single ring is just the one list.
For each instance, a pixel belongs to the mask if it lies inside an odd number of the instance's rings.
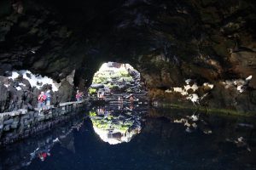
[{"label": "reflection of the stone walkway and red-clad visitor in left water", "polygon": [[15,170],[29,166],[32,161],[46,161],[50,159],[55,144],[60,144],[61,147],[74,153],[73,129],[79,130],[84,117],[84,114],[78,114],[68,121],[61,122],[50,132],[42,132],[19,143],[0,148],[0,169]]}]

